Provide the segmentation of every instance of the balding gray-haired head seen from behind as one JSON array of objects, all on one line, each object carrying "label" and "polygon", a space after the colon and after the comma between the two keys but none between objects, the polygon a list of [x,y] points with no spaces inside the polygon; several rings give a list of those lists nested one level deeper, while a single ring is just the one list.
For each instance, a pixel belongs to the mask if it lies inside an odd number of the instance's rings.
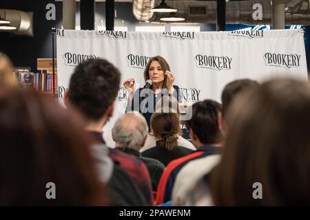
[{"label": "balding gray-haired head seen from behind", "polygon": [[139,151],[143,147],[148,129],[147,122],[140,113],[125,113],[116,120],[112,137],[116,146]]}]

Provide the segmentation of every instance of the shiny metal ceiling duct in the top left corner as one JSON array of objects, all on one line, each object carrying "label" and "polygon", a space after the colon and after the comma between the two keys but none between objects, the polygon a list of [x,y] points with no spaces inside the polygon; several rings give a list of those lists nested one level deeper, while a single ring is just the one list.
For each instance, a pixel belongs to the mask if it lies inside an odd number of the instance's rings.
[{"label": "shiny metal ceiling duct in the top left corner", "polygon": [[11,32],[19,35],[33,36],[33,12],[0,9],[0,17],[10,21],[10,25],[17,28],[16,30],[6,30],[6,32]]}]

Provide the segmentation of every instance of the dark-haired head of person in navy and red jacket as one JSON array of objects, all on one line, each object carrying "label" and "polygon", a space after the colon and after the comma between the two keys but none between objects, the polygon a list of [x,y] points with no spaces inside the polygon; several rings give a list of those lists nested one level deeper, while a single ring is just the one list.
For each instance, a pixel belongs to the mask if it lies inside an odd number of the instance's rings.
[{"label": "dark-haired head of person in navy and red jacket", "polygon": [[192,106],[192,118],[185,122],[203,144],[218,144],[223,137],[218,126],[218,113],[222,111],[220,103],[203,100]]}]

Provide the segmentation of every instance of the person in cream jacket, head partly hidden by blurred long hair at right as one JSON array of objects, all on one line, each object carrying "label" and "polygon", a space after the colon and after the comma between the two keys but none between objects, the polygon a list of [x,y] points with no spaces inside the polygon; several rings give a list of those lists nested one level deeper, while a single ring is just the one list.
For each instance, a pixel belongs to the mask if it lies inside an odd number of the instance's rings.
[{"label": "person in cream jacket, head partly hidden by blurred long hair at right", "polygon": [[[223,134],[225,134],[226,130],[224,115],[229,104],[241,92],[249,91],[249,89],[255,87],[258,87],[258,83],[249,79],[235,80],[225,86],[222,93],[222,114],[219,117],[219,126]],[[216,154],[195,159],[180,170],[172,192],[173,206],[211,206],[213,204],[206,179],[220,162],[220,157],[220,154]]]}]

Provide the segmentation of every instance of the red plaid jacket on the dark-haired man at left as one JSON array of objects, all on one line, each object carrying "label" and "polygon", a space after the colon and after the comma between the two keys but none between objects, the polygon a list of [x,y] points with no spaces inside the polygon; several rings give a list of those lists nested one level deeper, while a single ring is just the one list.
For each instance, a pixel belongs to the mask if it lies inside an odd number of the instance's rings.
[{"label": "red plaid jacket on the dark-haired man at left", "polygon": [[[96,131],[87,131],[87,133],[92,137],[94,144],[105,144],[102,133]],[[113,160],[114,164],[119,164],[119,166],[125,169],[127,174],[143,193],[146,201],[148,201],[148,205],[153,206],[152,183],[145,164],[136,157],[118,151],[116,148],[109,148],[109,151],[109,157]]]}]

